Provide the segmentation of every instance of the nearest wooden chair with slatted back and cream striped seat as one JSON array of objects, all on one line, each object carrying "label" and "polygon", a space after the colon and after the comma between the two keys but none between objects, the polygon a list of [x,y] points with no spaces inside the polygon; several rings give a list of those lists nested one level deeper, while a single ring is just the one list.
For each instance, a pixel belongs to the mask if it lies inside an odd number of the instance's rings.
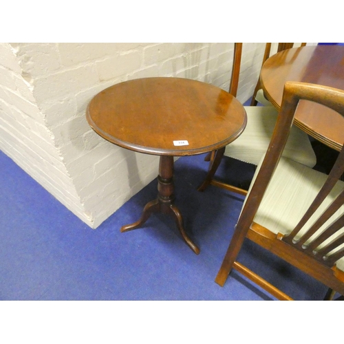
[{"label": "nearest wooden chair with slatted back and cream striped seat", "polygon": [[256,170],[215,279],[220,286],[234,268],[278,299],[291,299],[237,261],[241,245],[248,238],[344,294],[344,182],[339,180],[344,171],[344,148],[330,175],[281,157],[301,99],[330,107],[343,116],[344,143],[344,91],[286,83],[268,152]]}]

